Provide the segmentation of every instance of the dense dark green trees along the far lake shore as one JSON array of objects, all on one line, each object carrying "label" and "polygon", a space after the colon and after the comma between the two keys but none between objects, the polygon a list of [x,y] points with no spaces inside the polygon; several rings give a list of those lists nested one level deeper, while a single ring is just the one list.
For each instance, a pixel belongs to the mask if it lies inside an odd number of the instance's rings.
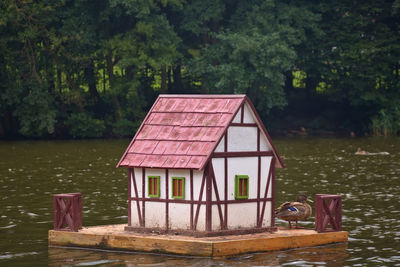
[{"label": "dense dark green trees along the far lake shore", "polygon": [[2,0],[0,137],[132,136],[160,93],[398,134],[399,68],[400,0]]}]

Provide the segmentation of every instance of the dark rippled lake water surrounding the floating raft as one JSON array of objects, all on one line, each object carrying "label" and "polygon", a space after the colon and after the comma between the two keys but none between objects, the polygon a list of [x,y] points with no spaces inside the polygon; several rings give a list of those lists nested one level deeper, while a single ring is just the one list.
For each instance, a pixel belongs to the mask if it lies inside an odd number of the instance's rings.
[{"label": "dark rippled lake water surrounding the floating raft", "polygon": [[[84,226],[127,222],[129,140],[0,142],[3,266],[400,266],[400,138],[274,138],[286,169],[277,202],[299,191],[340,194],[347,244],[227,259],[48,247],[53,194],[81,192]],[[389,155],[358,156],[358,147]],[[314,227],[314,218],[302,225]],[[278,226],[287,223],[277,221]]]}]

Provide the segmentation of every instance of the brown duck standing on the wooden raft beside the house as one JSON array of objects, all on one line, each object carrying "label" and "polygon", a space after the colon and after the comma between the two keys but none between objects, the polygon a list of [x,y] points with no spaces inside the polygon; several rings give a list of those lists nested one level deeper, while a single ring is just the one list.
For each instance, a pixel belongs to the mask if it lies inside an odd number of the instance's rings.
[{"label": "brown duck standing on the wooden raft beside the house", "polygon": [[305,194],[299,194],[295,202],[285,202],[276,209],[275,217],[289,222],[289,229],[292,229],[290,222],[296,222],[296,229],[303,228],[299,226],[298,221],[303,221],[311,216],[312,208],[307,203],[313,202]]}]

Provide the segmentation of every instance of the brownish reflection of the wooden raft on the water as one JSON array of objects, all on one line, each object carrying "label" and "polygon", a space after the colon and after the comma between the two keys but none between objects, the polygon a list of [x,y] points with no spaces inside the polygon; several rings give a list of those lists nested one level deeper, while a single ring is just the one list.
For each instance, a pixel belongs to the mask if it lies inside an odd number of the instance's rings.
[{"label": "brownish reflection of the wooden raft on the water", "polygon": [[177,257],[168,255],[82,250],[49,247],[50,266],[315,266],[325,264],[342,265],[348,257],[347,244],[273,251],[250,255],[208,259],[199,257]]}]

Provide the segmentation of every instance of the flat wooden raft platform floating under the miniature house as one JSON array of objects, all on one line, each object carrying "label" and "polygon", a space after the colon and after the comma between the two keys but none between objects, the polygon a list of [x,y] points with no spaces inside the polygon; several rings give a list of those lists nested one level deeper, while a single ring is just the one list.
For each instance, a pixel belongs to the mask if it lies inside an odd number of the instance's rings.
[{"label": "flat wooden raft platform floating under the miniature house", "polygon": [[49,231],[49,245],[131,250],[204,257],[311,247],[347,242],[346,231],[317,233],[305,229],[218,237],[139,234],[124,231],[125,224],[84,227],[78,232]]}]

